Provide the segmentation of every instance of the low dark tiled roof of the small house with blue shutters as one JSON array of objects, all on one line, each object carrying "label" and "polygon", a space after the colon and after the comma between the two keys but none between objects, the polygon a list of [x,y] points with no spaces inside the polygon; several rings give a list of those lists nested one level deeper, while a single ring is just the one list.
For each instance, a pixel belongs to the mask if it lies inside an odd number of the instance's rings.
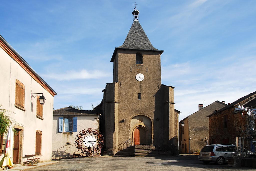
[{"label": "low dark tiled roof of the small house with blue shutters", "polygon": [[65,107],[53,111],[53,115],[101,115],[102,111],[78,110],[72,107]]}]

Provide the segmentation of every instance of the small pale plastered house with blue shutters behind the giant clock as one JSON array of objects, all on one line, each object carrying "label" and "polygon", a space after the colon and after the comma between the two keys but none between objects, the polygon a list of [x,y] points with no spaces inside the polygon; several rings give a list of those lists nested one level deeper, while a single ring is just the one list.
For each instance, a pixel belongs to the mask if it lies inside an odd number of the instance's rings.
[{"label": "small pale plastered house with blue shutters behind the giant clock", "polygon": [[85,129],[100,131],[101,111],[65,107],[54,110],[52,125],[52,159],[68,159],[83,155],[76,148],[77,134]]}]

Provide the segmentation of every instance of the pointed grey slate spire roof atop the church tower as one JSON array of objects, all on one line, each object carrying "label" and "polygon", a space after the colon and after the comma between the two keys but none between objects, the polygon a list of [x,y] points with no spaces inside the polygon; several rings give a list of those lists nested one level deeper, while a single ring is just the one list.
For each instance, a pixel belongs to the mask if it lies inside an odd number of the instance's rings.
[{"label": "pointed grey slate spire roof atop the church tower", "polygon": [[158,50],[149,41],[138,20],[134,20],[125,41],[119,48]]}]

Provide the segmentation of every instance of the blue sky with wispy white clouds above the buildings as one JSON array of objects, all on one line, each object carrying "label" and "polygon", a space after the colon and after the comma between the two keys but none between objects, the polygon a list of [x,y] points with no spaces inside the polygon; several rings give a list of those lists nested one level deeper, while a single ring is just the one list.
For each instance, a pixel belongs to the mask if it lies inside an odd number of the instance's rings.
[{"label": "blue sky with wispy white clouds above the buildings", "polygon": [[[0,34],[56,91],[54,108],[91,110],[113,81],[115,47],[132,25],[132,1],[2,1]],[[175,88],[179,120],[256,91],[256,1],[136,0]]]}]

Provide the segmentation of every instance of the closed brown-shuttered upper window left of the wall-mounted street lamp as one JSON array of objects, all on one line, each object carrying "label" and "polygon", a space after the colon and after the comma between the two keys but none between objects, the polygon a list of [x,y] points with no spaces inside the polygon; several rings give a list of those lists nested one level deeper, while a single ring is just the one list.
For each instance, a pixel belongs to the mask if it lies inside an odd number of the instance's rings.
[{"label": "closed brown-shuttered upper window left of the wall-mounted street lamp", "polygon": [[16,79],[15,87],[15,107],[24,110],[25,104],[25,86]]}]

